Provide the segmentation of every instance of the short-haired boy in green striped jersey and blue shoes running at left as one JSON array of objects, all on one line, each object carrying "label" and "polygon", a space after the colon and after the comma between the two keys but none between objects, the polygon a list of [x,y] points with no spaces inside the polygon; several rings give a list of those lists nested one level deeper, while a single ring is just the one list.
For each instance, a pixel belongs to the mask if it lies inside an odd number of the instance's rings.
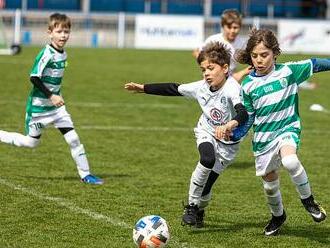
[{"label": "short-haired boy in green striped jersey and blue shoes running at left", "polygon": [[92,175],[84,146],[80,143],[70,114],[61,96],[61,83],[67,55],[64,46],[69,39],[70,19],[63,14],[52,14],[48,22],[50,44],[37,55],[30,74],[33,88],[26,106],[26,135],[0,130],[0,141],[19,147],[34,148],[39,144],[43,129],[53,124],[64,136],[75,161],[81,181],[102,184]]}]

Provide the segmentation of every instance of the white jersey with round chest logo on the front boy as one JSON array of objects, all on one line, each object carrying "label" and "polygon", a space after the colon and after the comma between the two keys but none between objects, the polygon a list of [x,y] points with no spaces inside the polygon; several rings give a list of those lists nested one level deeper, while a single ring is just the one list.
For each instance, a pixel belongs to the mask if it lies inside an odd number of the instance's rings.
[{"label": "white jersey with round chest logo on the front boy", "polygon": [[205,80],[181,84],[178,91],[183,96],[198,101],[202,114],[197,128],[202,128],[212,136],[216,126],[224,125],[236,116],[234,106],[241,103],[241,86],[232,77],[229,77],[223,87],[215,92],[210,91],[210,85]]}]

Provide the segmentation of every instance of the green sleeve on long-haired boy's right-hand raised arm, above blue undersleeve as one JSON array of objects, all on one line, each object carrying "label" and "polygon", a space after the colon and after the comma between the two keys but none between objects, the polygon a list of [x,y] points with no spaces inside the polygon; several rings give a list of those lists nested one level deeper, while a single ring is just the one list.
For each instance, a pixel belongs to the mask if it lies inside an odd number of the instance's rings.
[{"label": "green sleeve on long-haired boy's right-hand raised arm, above blue undersleeve", "polygon": [[302,60],[298,62],[287,63],[291,69],[291,80],[297,84],[301,84],[313,75],[312,60]]}]

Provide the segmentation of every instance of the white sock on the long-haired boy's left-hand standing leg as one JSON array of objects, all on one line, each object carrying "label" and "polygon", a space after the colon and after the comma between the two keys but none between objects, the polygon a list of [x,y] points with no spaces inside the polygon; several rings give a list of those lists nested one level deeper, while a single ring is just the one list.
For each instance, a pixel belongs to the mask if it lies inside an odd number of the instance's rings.
[{"label": "white sock on the long-haired boy's left-hand standing leg", "polygon": [[283,214],[283,203],[279,179],[272,182],[263,180],[263,186],[271,213],[274,216],[281,216]]}]

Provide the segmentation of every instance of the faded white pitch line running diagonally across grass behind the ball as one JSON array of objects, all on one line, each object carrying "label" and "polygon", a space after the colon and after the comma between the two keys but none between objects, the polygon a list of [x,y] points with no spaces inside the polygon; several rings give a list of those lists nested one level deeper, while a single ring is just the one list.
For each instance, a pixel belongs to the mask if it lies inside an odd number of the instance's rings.
[{"label": "faded white pitch line running diagonally across grass behind the ball", "polygon": [[[106,215],[103,215],[103,214],[100,214],[100,213],[97,213],[97,212],[94,212],[94,211],[91,211],[91,210],[86,209],[86,208],[81,208],[81,207],[75,205],[74,203],[72,203],[72,202],[70,202],[66,199],[63,199],[63,198],[60,198],[60,197],[52,197],[52,196],[48,196],[46,194],[39,193],[35,190],[28,189],[28,188],[23,187],[19,184],[11,183],[8,180],[3,179],[1,177],[0,177],[0,184],[5,185],[8,188],[11,188],[13,190],[18,190],[18,191],[21,191],[25,194],[32,195],[32,196],[38,198],[39,200],[54,202],[57,205],[65,207],[65,208],[71,210],[74,213],[87,215],[87,216],[89,216],[90,218],[92,218],[94,220],[101,220],[101,221],[109,223],[113,226],[119,226],[119,227],[123,227],[123,228],[132,229],[131,225],[129,225],[129,224],[123,222],[123,221],[120,221],[118,219],[115,219],[115,218],[112,218],[112,217],[109,217],[109,216],[106,216]],[[177,247],[181,247],[181,248],[188,248],[188,247],[189,248],[195,248],[193,246],[188,245],[187,243],[182,243],[181,244],[179,241],[177,241],[173,237],[171,238],[170,243],[174,244]]]}]

